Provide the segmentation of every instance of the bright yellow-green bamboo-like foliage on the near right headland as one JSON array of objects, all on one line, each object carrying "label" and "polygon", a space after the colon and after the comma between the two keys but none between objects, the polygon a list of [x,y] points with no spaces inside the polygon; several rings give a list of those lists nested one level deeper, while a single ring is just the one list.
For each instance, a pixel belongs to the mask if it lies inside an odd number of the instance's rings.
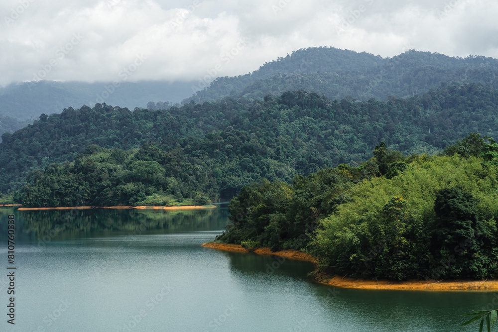
[{"label": "bright yellow-green bamboo-like foliage on the near right headland", "polygon": [[[472,278],[495,276],[498,270],[489,243],[494,243],[491,235],[496,233],[496,184],[496,168],[483,163],[482,159],[417,157],[408,163],[402,174],[392,179],[372,178],[352,187],[348,191],[351,201],[342,204],[336,213],[321,221],[321,228],[313,242],[314,250],[323,258],[324,265],[341,266],[344,271],[352,271],[362,277],[432,278],[432,269],[437,269],[441,260],[452,255],[450,260],[459,263],[464,260],[461,251],[470,250],[471,244],[463,249],[454,247],[467,238],[473,240],[477,231],[475,227],[470,228],[458,241],[450,241],[452,245],[448,242],[448,246],[443,247],[441,245],[446,243],[445,240],[438,242],[433,239],[432,232],[439,229],[434,212],[436,196],[446,188],[458,187],[479,202],[475,203],[476,218],[486,227],[482,225],[478,228],[482,229],[481,240],[488,245],[484,252],[478,251],[481,260],[485,261],[481,265],[487,265],[489,269],[472,267],[473,273],[459,272],[459,264],[453,262],[444,271],[436,273],[436,279],[456,277],[455,274]],[[394,204],[396,197],[400,199]],[[393,229],[396,230],[394,233]],[[457,231],[454,227],[451,229]],[[441,250],[446,250],[446,254],[440,253]],[[399,259],[396,260],[396,257]],[[390,273],[391,264],[401,264],[397,270],[404,272]],[[402,264],[408,265],[402,268]]]}]

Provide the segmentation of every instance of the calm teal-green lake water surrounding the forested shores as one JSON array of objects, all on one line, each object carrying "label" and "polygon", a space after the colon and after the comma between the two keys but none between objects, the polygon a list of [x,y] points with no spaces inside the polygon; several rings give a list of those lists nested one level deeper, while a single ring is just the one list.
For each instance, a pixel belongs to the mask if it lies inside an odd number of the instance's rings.
[{"label": "calm teal-green lake water surrounding the forested shores", "polygon": [[[15,325],[6,323],[6,221],[16,219]],[[459,315],[493,293],[350,290],[310,263],[203,248],[210,211],[0,209],[0,331],[478,331]],[[497,302],[497,301],[495,301]]]}]

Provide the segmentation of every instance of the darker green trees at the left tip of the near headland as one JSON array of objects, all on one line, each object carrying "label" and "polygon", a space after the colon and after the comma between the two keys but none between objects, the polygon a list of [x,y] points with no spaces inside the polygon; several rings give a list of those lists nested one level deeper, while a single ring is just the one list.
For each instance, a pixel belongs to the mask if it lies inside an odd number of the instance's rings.
[{"label": "darker green trees at the left tip of the near headland", "polygon": [[350,181],[350,174],[326,168],[295,177],[292,186],[263,180],[244,187],[230,203],[231,224],[217,239],[237,244],[255,240],[272,250],[300,249],[317,221],[348,201],[343,191]]}]

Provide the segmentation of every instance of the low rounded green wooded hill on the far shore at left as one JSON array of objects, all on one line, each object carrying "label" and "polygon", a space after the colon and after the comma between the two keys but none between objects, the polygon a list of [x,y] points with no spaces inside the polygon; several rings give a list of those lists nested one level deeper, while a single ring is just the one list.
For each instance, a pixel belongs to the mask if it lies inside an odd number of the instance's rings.
[{"label": "low rounded green wooded hill on the far shore at left", "polygon": [[154,145],[129,151],[90,145],[71,163],[31,173],[14,196],[28,207],[207,205],[219,185],[205,179],[205,170]]}]

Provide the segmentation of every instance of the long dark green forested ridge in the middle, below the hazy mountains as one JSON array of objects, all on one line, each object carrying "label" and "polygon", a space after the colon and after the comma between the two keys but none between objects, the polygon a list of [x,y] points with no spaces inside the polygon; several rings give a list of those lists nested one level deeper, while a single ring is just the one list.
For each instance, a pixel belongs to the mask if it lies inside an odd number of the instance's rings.
[{"label": "long dark green forested ridge in the middle, below the hazy mountains", "polygon": [[[150,143],[162,151],[160,157],[135,158],[135,151],[130,158],[159,163],[165,174],[185,183],[182,196],[215,188],[210,199],[229,198],[260,178],[290,181],[325,166],[357,166],[380,141],[421,154],[471,131],[497,137],[496,100],[493,88],[467,84],[387,102],[337,102],[296,91],[256,102],[225,98],[161,111],[101,104],[69,108],[2,135],[0,191],[18,189],[33,170],[88,153],[91,144],[129,150]],[[208,185],[215,178],[217,187]]]}]

